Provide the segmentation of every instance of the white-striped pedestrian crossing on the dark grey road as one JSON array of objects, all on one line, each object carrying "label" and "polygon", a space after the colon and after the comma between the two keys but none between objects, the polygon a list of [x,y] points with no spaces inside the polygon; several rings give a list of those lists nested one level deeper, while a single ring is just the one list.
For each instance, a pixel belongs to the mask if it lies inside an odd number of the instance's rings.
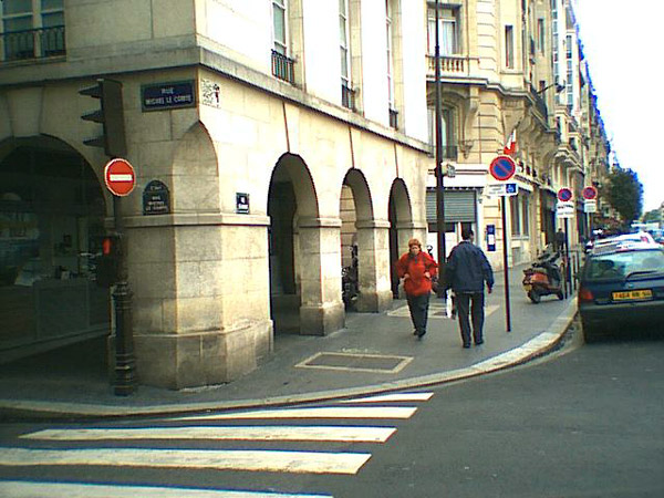
[{"label": "white-striped pedestrian crossing on the dark grey road", "polygon": [[[396,424],[411,418],[418,409],[417,404],[427,402],[432,396],[430,392],[391,393],[341,400],[321,406],[164,417],[129,426],[44,428],[20,436],[23,446],[0,448],[0,469],[2,475],[11,468],[55,467],[65,471],[68,467],[102,466],[121,473],[144,468],[183,473],[211,470],[353,476],[371,459],[372,445],[386,444],[396,433]],[[237,448],[238,444],[245,444],[245,447]],[[268,492],[172,488],[163,486],[163,483],[132,488],[136,487],[110,483],[0,480],[0,496],[3,497],[330,496],[279,494],[272,489]],[[39,492],[35,494],[35,490]]]}]

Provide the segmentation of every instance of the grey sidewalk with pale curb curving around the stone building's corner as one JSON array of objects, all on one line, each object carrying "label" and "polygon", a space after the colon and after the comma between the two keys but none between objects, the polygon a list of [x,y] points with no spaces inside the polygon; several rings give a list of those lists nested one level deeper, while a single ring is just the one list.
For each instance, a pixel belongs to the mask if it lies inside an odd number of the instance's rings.
[{"label": "grey sidewalk with pale curb curving around the stone building's corner", "polygon": [[95,339],[0,365],[0,416],[146,416],[262,407],[403,388],[417,388],[497,371],[556,346],[572,321],[575,300],[546,297],[532,304],[522,269],[509,270],[511,332],[506,331],[502,272],[487,294],[485,344],[461,349],[458,323],[432,299],[428,333],[413,336],[406,302],[383,313],[349,313],[346,328],[328,336],[278,334],[271,359],[229,384],[168,391],[138,386],[115,396],[105,365],[105,340]]}]

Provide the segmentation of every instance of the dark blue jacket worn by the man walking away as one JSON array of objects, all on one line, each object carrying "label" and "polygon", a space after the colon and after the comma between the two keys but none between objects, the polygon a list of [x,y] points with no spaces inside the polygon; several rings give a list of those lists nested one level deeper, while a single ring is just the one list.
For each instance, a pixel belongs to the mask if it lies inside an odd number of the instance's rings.
[{"label": "dark blue jacket worn by the man walking away", "polygon": [[450,252],[446,267],[447,286],[455,292],[484,292],[484,282],[494,287],[494,271],[480,248],[468,240]]}]

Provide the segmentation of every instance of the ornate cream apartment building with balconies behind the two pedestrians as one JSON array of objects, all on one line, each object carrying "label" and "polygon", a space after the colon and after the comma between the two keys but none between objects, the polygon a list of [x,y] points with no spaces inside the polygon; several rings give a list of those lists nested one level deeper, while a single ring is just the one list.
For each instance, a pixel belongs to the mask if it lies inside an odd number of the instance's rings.
[{"label": "ornate cream apartment building with balconies behind the two pedestrians", "polygon": [[[530,261],[564,225],[557,193],[569,187],[575,209],[570,242],[587,232],[581,190],[606,169],[608,143],[596,110],[571,4],[564,0],[457,0],[428,2],[427,105],[434,143],[435,13],[438,6],[446,249],[464,226],[475,229],[495,268]],[[518,195],[507,203],[487,195],[491,160],[517,164]],[[590,166],[592,165],[592,166]],[[435,190],[427,180],[428,240],[436,245]],[[489,247],[487,236],[496,235]]]}]

